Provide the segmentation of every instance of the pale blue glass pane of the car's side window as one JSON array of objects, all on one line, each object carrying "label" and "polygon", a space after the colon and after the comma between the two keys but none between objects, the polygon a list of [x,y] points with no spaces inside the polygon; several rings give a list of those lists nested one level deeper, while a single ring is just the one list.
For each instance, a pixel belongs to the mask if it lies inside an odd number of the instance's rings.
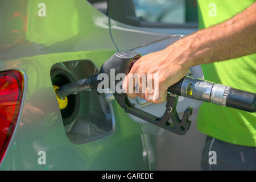
[{"label": "pale blue glass pane of the car's side window", "polygon": [[133,0],[137,18],[146,22],[197,22],[196,0]]}]

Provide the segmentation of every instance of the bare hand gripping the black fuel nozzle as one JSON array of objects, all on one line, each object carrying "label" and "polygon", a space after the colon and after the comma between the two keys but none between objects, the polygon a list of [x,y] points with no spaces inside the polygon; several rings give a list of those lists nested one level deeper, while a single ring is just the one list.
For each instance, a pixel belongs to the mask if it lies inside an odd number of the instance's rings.
[{"label": "bare hand gripping the black fuel nozzle", "polygon": [[[142,56],[134,63],[122,84],[123,90],[129,97],[139,96],[148,102],[156,104],[166,100],[168,87],[181,80],[187,74],[189,68],[184,64],[185,60],[187,60],[184,46],[181,43],[176,43],[163,51]],[[139,80],[134,79],[133,75],[135,73],[138,73],[139,77],[143,74],[146,75],[146,86],[143,86],[141,78]],[[148,85],[150,85],[151,81],[148,73],[152,73],[155,76],[158,75],[158,84],[154,84],[157,80],[152,76],[153,93],[148,92],[150,90]],[[135,88],[135,86],[138,86],[139,93],[135,93],[135,89],[129,90],[129,88]]]}]

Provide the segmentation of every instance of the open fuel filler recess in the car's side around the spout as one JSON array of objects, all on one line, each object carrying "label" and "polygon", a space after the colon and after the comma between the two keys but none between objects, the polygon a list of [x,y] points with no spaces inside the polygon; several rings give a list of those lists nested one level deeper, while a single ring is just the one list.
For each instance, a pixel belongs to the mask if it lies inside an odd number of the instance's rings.
[{"label": "open fuel filler recess in the car's side around the spout", "polygon": [[[96,73],[98,73],[98,68],[91,60],[55,63],[51,67],[52,85],[68,86],[69,83],[86,80]],[[59,108],[56,109],[60,109],[64,125],[63,132],[69,141],[74,144],[82,144],[112,134],[115,129],[112,102],[107,101],[105,95],[98,94],[96,90],[83,90],[84,84],[82,82],[77,83],[77,86],[81,86],[82,90],[79,89],[76,94],[72,86],[57,92],[58,97],[67,96],[67,107],[65,107],[63,100],[59,100],[60,107],[57,106]],[[55,94],[53,88],[52,92]],[[57,98],[52,102],[57,102]]]}]

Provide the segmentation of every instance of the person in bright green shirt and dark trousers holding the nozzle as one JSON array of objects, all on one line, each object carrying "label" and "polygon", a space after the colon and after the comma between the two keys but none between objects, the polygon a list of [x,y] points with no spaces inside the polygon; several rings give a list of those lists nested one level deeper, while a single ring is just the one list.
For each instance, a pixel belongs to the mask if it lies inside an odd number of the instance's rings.
[{"label": "person in bright green shirt and dark trousers holding the nozzle", "polygon": [[[167,88],[188,69],[202,64],[205,80],[256,92],[256,3],[254,0],[198,0],[201,29],[162,51],[136,61],[123,81],[129,97],[148,102],[166,100]],[[128,92],[135,86],[132,74],[158,74],[158,97],[148,88]],[[148,99],[152,98],[152,99]],[[256,113],[204,103],[197,115],[197,129],[208,135],[202,152],[204,170],[256,170]],[[216,152],[217,164],[209,164],[209,151]]]}]

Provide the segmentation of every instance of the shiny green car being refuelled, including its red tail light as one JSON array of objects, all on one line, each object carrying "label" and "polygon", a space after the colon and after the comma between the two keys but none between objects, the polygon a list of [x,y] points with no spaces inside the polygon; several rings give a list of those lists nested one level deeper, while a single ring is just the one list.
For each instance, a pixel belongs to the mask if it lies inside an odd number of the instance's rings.
[{"label": "shiny green car being refuelled, including its red tail light", "polygon": [[[93,75],[117,50],[145,55],[197,29],[146,22],[135,10],[127,0],[0,2],[1,170],[158,169],[163,129],[94,90],[68,96],[60,110],[53,88]],[[203,78],[200,66],[188,74]],[[131,101],[155,115],[165,110],[164,103]],[[188,104],[201,102],[180,98],[179,113]]]}]

